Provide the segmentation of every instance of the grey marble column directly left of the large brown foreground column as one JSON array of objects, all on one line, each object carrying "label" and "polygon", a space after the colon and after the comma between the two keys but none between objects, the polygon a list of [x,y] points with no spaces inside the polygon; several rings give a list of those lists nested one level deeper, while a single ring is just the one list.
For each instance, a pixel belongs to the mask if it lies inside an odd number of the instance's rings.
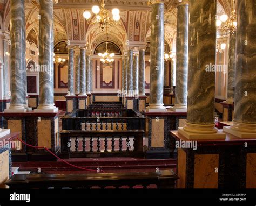
[{"label": "grey marble column directly left of the large brown foreground column", "polygon": [[176,109],[187,108],[187,66],[188,66],[188,5],[178,6],[176,44]]}]

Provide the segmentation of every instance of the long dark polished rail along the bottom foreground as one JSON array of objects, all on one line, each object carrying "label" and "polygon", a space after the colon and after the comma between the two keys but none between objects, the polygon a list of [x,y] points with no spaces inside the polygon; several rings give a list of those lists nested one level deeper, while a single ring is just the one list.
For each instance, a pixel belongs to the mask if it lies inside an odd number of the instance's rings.
[{"label": "long dark polished rail along the bottom foreground", "polygon": [[152,185],[161,189],[174,188],[177,179],[177,175],[172,171],[159,171],[159,173],[15,174],[5,184],[10,189],[147,188]]}]

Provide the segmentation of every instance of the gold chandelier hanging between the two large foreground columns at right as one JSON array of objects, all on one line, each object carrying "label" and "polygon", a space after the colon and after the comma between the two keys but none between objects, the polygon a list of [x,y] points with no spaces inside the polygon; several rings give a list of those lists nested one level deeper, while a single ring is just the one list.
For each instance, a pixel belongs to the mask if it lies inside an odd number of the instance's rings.
[{"label": "gold chandelier hanging between the two large foreground columns at right", "polygon": [[234,0],[232,3],[231,16],[228,18],[226,14],[221,15],[219,19],[216,20],[216,27],[220,32],[229,30],[231,33],[234,33],[237,30],[237,15],[235,15]]}]

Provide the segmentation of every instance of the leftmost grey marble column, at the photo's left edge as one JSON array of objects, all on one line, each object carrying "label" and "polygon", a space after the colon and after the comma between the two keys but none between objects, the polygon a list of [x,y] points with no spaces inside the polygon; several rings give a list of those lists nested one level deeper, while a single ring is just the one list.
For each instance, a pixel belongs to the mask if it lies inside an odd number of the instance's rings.
[{"label": "leftmost grey marble column, at the photo's left edge", "polygon": [[26,40],[24,0],[10,1],[11,7],[11,50],[10,50],[10,90],[9,109],[26,108]]}]

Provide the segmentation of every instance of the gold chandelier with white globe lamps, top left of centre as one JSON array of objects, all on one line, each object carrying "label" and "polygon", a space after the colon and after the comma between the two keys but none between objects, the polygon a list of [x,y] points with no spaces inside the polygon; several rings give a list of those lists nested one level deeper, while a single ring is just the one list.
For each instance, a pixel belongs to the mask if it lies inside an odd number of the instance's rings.
[{"label": "gold chandelier with white globe lamps, top left of centre", "polygon": [[89,25],[99,24],[99,27],[102,30],[104,30],[105,25],[116,26],[117,22],[120,20],[120,10],[117,8],[112,9],[113,17],[109,17],[109,11],[105,8],[104,0],[100,3],[100,8],[97,5],[92,6],[92,12],[96,15],[95,20],[90,19],[90,11],[85,11],[83,13],[84,18]]}]

